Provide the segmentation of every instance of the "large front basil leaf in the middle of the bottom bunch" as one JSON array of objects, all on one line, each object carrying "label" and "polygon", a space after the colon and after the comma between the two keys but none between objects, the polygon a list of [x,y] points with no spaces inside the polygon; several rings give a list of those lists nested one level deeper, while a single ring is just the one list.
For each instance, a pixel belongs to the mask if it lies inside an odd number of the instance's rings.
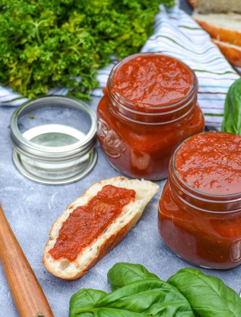
[{"label": "large front basil leaf in the middle of the bottom bunch", "polygon": [[86,301],[82,304],[78,298],[78,307],[75,305],[75,314],[70,317],[194,317],[186,298],[175,287],[158,279],[130,283],[94,302],[90,306],[89,299],[86,305]]}]

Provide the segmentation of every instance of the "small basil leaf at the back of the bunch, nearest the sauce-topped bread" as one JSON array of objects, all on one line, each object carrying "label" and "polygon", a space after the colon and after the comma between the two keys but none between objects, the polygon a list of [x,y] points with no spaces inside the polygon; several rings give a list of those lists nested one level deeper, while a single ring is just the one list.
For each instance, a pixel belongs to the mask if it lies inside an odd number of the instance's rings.
[{"label": "small basil leaf at the back of the bunch, nearest the sauce-topped bread", "polygon": [[114,266],[108,271],[107,278],[112,291],[134,281],[145,280],[146,278],[155,278],[160,280],[157,275],[147,271],[145,266],[125,262],[114,264]]}]

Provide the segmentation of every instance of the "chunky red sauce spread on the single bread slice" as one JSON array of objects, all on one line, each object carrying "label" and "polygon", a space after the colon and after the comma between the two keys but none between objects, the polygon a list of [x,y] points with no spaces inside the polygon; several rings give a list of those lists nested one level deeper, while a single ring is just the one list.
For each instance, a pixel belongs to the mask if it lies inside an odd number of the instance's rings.
[{"label": "chunky red sauce spread on the single bread slice", "polygon": [[121,213],[124,206],[135,200],[136,192],[106,185],[87,205],[77,207],[59,230],[53,249],[48,252],[54,259],[61,257],[74,261],[103,230]]}]

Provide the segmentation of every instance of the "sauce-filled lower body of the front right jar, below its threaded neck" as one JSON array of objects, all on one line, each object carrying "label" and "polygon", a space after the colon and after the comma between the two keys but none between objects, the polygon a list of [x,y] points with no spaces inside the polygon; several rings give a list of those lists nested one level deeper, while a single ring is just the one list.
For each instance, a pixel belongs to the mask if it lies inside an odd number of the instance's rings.
[{"label": "sauce-filled lower body of the front right jar, below its threaded neck", "polygon": [[158,208],[158,230],[182,259],[207,268],[241,264],[241,212],[210,214],[187,209],[165,184]]}]

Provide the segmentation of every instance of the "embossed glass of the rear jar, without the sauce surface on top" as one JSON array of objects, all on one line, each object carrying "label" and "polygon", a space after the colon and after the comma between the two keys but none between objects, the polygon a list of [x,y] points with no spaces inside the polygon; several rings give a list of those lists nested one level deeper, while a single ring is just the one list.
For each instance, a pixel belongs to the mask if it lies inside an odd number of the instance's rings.
[{"label": "embossed glass of the rear jar, without the sauce surface on top", "polygon": [[[169,96],[168,101],[166,98],[165,102],[160,99],[159,104],[153,103],[151,98],[148,103],[133,101],[123,96],[116,90],[114,76],[126,63],[132,63],[143,56],[161,56],[170,63],[178,63],[180,72],[190,74],[191,84],[188,92],[180,100],[175,99],[173,102],[174,99]],[[148,74],[148,63],[142,65],[140,61],[140,65],[145,67]],[[175,77],[175,71],[174,74],[169,72],[168,68],[165,68],[166,73],[163,71],[155,74],[156,82],[160,75]],[[144,83],[144,86],[148,85],[148,82]],[[179,82],[176,85],[179,85]],[[130,85],[135,86],[135,82],[130,82]],[[138,89],[145,89],[144,86]],[[165,93],[165,88],[163,89]],[[176,147],[189,136],[204,129],[203,114],[197,104],[197,91],[198,82],[194,72],[173,57],[159,53],[139,53],[118,62],[109,75],[105,95],[97,108],[97,137],[109,163],[121,173],[133,178],[167,178],[168,163]]]}]

